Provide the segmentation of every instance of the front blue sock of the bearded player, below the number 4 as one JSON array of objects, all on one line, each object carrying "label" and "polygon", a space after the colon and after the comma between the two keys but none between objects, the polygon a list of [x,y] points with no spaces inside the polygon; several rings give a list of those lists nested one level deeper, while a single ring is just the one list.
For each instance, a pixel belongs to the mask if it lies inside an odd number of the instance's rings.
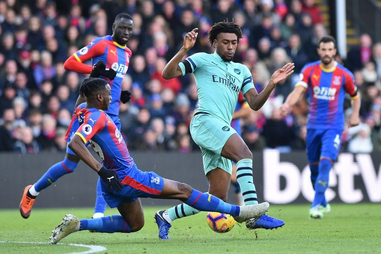
[{"label": "front blue sock of the bearded player, below the number 4", "polygon": [[[332,168],[332,161],[328,160],[327,158],[323,158],[320,160],[319,163],[319,175],[317,175],[316,182],[315,182],[315,197],[312,202],[312,206],[314,207],[316,205],[320,205],[324,203],[325,200],[325,192],[328,188],[328,182],[329,182],[329,171]],[[327,201],[326,205],[327,205]]]}]

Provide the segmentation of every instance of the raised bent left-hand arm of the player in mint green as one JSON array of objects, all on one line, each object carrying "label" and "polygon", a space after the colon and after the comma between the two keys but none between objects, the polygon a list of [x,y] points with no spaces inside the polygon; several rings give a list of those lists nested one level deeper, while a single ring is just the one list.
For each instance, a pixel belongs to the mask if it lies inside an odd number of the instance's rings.
[{"label": "raised bent left-hand arm of the player in mint green", "polygon": [[198,33],[196,32],[199,28],[194,28],[192,31],[187,33],[184,37],[184,45],[181,49],[176,53],[174,57],[167,63],[164,67],[162,76],[165,79],[171,79],[175,77],[182,76],[181,69],[179,67],[179,63],[184,55],[188,52],[189,49],[193,48],[196,43],[196,39]]}]

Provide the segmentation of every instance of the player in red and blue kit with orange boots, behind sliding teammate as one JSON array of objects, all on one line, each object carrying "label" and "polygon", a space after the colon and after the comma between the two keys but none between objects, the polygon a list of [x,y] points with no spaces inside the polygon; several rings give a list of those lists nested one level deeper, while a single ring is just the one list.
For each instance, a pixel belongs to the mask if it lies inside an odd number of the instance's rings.
[{"label": "player in red and blue kit with orange boots, behind sliding teammate", "polygon": [[[115,122],[120,130],[119,104],[120,101],[126,103],[131,93],[121,90],[121,82],[129,67],[131,50],[126,46],[132,35],[134,21],[129,14],[120,13],[115,17],[112,26],[113,34],[101,38],[96,38],[87,46],[75,52],[65,62],[65,69],[77,73],[92,73],[92,77],[101,77],[105,79],[111,87],[112,101],[107,113]],[[93,69],[92,65],[86,65],[84,62],[91,59],[92,63],[97,62],[99,68]],[[106,63],[105,66],[101,65]],[[76,106],[83,102],[79,97]],[[79,122],[75,116],[69,125],[66,139],[70,142],[75,131],[78,129]],[[36,201],[37,195],[41,190],[50,186],[58,178],[68,173],[72,173],[79,163],[78,156],[67,147],[66,157],[63,161],[51,166],[47,172],[37,181],[36,184],[27,185],[20,202],[20,213],[23,218],[28,218],[30,211]],[[102,196],[101,184],[98,181],[97,199],[94,208],[93,217],[102,217],[106,209],[106,202]]]}]

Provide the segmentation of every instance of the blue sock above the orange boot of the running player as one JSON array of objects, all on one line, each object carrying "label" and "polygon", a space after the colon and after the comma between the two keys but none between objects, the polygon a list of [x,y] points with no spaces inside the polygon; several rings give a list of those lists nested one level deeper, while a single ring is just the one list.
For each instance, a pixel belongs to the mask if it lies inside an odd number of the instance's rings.
[{"label": "blue sock above the orange boot of the running player", "polygon": [[51,166],[48,171],[35,184],[36,192],[41,192],[44,188],[50,186],[59,177],[72,173],[77,168],[78,163],[65,158],[62,162]]}]

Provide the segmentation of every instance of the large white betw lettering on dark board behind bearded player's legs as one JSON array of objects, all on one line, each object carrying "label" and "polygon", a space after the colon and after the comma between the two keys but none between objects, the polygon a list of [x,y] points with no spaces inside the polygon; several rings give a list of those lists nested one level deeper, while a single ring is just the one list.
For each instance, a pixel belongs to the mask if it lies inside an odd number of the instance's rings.
[{"label": "large white betw lettering on dark board behind bearded player's legs", "polygon": [[[263,195],[273,204],[312,202],[306,155],[263,152]],[[303,156],[303,157],[302,157]],[[381,202],[380,154],[340,153],[330,171],[328,202]]]}]

